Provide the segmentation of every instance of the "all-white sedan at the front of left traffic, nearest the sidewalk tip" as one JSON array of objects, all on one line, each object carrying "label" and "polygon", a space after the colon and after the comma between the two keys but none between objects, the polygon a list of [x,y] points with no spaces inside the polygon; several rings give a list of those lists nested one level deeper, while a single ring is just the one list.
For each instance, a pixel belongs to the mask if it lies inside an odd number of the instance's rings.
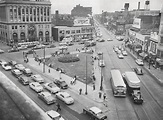
[{"label": "all-white sedan at the front of left traffic, nearest the sidewalk tip", "polygon": [[67,92],[59,92],[56,97],[68,105],[74,103],[74,99]]}]

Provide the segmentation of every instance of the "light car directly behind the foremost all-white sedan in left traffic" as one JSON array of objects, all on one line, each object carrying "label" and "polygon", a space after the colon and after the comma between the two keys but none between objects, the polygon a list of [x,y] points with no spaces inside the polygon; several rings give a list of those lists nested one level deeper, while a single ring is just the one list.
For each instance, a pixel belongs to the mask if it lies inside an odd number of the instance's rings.
[{"label": "light car directly behind the foremost all-white sedan in left traffic", "polygon": [[57,93],[61,91],[61,89],[53,83],[45,83],[44,88],[50,91],[51,93]]}]

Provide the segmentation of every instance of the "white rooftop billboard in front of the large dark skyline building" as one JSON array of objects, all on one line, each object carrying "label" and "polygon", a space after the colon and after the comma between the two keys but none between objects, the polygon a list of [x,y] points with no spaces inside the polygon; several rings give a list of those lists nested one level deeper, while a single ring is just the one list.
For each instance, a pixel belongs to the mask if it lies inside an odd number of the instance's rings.
[{"label": "white rooftop billboard in front of the large dark skyline building", "polygon": [[83,26],[83,25],[91,25],[89,18],[76,18],[74,20],[74,26]]}]

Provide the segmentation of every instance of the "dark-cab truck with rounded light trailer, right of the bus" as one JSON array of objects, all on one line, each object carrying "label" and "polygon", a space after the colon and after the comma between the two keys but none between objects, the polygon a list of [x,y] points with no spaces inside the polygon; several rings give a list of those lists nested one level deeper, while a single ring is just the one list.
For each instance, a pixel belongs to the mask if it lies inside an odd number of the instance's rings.
[{"label": "dark-cab truck with rounded light trailer, right of the bus", "polygon": [[135,72],[125,72],[122,74],[124,82],[127,86],[127,92],[136,104],[142,104],[143,98],[140,91],[140,79]]}]

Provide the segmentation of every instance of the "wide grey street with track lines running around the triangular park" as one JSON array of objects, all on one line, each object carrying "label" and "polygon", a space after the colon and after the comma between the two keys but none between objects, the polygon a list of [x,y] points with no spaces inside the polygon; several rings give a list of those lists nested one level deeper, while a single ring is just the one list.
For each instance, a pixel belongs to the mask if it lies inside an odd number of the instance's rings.
[{"label": "wide grey street with track lines running around the triangular park", "polygon": [[[103,68],[104,81],[103,87],[107,94],[107,104],[109,111],[107,112],[108,120],[162,120],[163,119],[163,92],[162,87],[159,85],[151,75],[144,70],[144,75],[139,76],[141,80],[141,92],[144,98],[144,103],[142,105],[136,105],[131,100],[130,96],[126,98],[115,98],[112,94],[112,89],[110,85],[110,70],[112,68],[120,69],[121,73],[125,71],[132,71],[132,68],[136,67],[137,64],[134,62],[134,58],[128,54],[124,59],[119,59],[117,54],[113,51],[114,45],[121,45],[122,42],[117,41],[115,36],[111,32],[108,32],[103,26],[99,26],[100,31],[103,34],[103,39],[105,42],[98,42],[96,46],[96,51],[102,51],[105,60],[106,67]],[[107,41],[108,38],[112,38],[113,41]],[[75,48],[80,48],[82,45],[76,45],[69,47],[71,50]],[[57,48],[47,48],[46,55],[53,53]],[[127,48],[126,48],[127,49]],[[37,50],[37,54],[43,56],[43,50]],[[32,55],[30,55],[32,57]],[[19,63],[24,64],[26,67],[31,68],[34,73],[41,74],[46,81],[51,81],[51,77],[32,68],[30,65],[23,62],[23,53],[5,53],[0,55],[0,59],[6,61],[16,60]],[[4,71],[0,68],[8,78],[10,78],[28,97],[30,97],[38,106],[40,106],[44,111],[56,109],[55,105],[46,105],[41,101],[37,94],[29,89],[28,86],[21,85],[15,77],[11,75],[10,72]],[[79,97],[77,91],[71,89],[66,90],[74,98],[75,103],[73,105],[65,105],[64,103],[58,101],[61,104],[62,111],[60,112],[67,120],[91,120],[89,116],[82,113],[82,108],[85,105],[95,105],[94,101],[88,100],[88,103],[83,103],[81,97]],[[86,101],[86,100],[85,100]],[[84,101],[84,102],[85,102]]]}]

